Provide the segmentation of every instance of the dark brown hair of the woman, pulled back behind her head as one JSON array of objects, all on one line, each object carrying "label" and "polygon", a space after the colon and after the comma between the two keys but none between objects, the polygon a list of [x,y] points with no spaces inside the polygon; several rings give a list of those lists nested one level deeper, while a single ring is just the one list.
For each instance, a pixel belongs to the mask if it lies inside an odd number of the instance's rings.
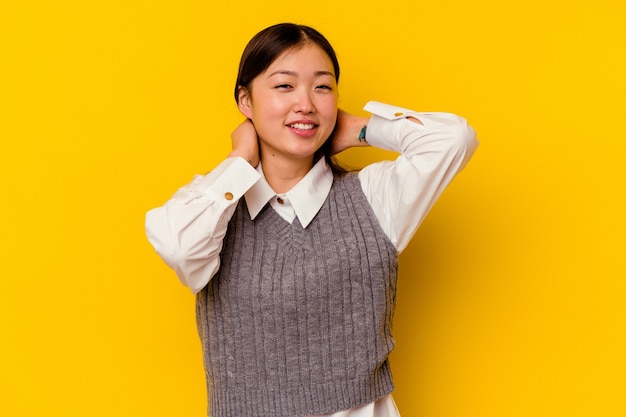
[{"label": "dark brown hair of the woman, pulled back behind her head", "polygon": [[[313,42],[326,52],[335,70],[335,81],[339,83],[339,61],[335,50],[324,35],[309,26],[279,23],[260,31],[246,45],[239,62],[239,72],[235,83],[235,101],[239,103],[239,89],[249,90],[252,81],[283,52],[303,46],[307,42]],[[332,134],[317,151],[315,158],[317,160],[323,156],[333,173],[345,173],[346,170],[331,157],[330,138]]]}]

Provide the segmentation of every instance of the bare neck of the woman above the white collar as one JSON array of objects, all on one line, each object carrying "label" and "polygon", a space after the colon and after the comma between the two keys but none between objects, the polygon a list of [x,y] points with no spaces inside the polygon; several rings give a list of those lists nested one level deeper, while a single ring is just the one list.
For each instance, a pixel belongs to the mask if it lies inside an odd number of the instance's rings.
[{"label": "bare neck of the woman above the white collar", "polygon": [[313,167],[313,157],[304,159],[279,159],[261,157],[263,174],[277,194],[291,190]]}]

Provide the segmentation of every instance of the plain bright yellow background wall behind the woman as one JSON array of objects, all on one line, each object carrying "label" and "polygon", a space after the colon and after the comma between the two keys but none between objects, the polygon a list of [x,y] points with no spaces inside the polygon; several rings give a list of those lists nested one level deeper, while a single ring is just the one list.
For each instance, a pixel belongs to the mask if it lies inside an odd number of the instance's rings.
[{"label": "plain bright yellow background wall behind the woman", "polygon": [[621,0],[0,2],[0,415],[204,415],[143,218],[226,155],[241,51],[280,21],[334,44],[343,108],[479,133],[401,257],[402,415],[626,415]]}]

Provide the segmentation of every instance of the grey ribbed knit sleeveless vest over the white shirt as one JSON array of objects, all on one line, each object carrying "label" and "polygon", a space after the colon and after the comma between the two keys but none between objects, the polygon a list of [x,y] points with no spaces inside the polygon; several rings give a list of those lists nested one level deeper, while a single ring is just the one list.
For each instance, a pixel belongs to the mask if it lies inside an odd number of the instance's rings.
[{"label": "grey ribbed knit sleeveless vest over the white shirt", "polygon": [[241,199],[197,296],[211,417],[346,410],[393,390],[397,251],[356,173],[304,229]]}]

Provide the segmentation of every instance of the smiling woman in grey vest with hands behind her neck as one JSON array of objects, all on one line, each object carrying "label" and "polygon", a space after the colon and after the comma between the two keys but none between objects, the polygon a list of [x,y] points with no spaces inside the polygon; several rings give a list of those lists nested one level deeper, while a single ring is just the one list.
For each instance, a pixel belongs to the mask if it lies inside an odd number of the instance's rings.
[{"label": "smiling woman in grey vest with hands behind her neck", "polygon": [[[147,214],[150,242],[197,294],[212,417],[399,415],[397,256],[477,142],[451,114],[339,110],[338,80],[316,30],[259,32],[229,157]],[[369,145],[400,156],[359,172],[331,158]]]}]

